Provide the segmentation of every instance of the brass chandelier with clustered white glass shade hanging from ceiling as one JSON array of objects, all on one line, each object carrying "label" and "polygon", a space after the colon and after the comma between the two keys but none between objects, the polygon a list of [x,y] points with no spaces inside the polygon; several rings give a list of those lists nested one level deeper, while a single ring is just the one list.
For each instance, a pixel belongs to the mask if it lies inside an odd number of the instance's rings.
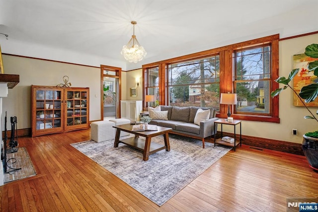
[{"label": "brass chandelier with clustered white glass shade hanging from ceiling", "polygon": [[134,34],[131,36],[131,39],[129,40],[127,45],[123,46],[123,49],[120,53],[130,63],[137,63],[138,61],[141,61],[142,59],[144,59],[144,57],[146,57],[147,52],[145,51],[144,47],[139,44],[135,35],[135,24],[137,24],[137,21],[132,21],[131,24],[134,25]]}]

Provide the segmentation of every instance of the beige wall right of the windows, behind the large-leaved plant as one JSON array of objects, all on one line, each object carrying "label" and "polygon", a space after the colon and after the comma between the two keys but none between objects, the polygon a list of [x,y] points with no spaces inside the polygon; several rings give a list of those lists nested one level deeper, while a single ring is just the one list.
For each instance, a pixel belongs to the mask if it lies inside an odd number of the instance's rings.
[{"label": "beige wall right of the windows, behind the large-leaved plant", "polygon": [[[306,46],[317,42],[318,34],[280,41],[279,76],[288,77],[293,69],[293,55],[303,54]],[[305,115],[310,115],[309,112],[303,106],[293,106],[292,98],[291,89],[283,91],[279,96],[280,123],[242,121],[242,134],[301,143],[302,135],[317,130],[318,123],[313,119],[304,119]],[[311,107],[311,110],[316,114],[317,107]],[[292,135],[293,128],[298,129],[298,135]],[[228,132],[233,131],[233,127],[225,129]]]}]

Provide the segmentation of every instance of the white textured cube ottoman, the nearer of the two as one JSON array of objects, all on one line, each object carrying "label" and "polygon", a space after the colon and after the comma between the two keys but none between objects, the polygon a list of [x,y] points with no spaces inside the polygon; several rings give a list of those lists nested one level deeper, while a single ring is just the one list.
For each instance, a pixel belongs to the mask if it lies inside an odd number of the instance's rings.
[{"label": "white textured cube ottoman, the nearer of the two", "polygon": [[112,121],[94,121],[90,124],[90,139],[103,142],[115,139],[115,123]]}]

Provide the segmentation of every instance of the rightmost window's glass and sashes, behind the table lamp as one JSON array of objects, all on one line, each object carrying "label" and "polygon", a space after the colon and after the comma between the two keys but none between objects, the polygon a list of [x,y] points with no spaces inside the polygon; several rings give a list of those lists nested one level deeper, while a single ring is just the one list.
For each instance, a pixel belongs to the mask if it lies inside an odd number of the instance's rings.
[{"label": "rightmost window's glass and sashes, behind the table lamp", "polygon": [[237,114],[271,115],[271,46],[270,44],[236,50],[235,93]]}]

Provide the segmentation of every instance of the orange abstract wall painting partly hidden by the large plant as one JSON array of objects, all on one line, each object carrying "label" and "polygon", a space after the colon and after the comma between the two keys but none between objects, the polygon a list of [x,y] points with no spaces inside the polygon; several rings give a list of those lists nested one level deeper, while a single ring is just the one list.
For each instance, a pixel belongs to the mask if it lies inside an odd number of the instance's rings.
[{"label": "orange abstract wall painting partly hidden by the large plant", "polygon": [[[310,62],[313,62],[315,60],[318,60],[318,58],[311,58],[308,57],[305,54],[297,54],[293,56],[294,61],[294,67],[293,69],[299,69],[298,74],[294,77],[294,90],[299,94],[301,89],[304,86],[310,85],[313,82],[316,82],[318,78],[314,75],[314,72],[308,71],[308,64]],[[300,99],[296,96],[296,94],[293,95],[293,103],[294,106],[304,106]],[[305,100],[303,100],[305,103]],[[311,103],[305,103],[306,106],[318,106],[318,100],[311,102]]]}]

